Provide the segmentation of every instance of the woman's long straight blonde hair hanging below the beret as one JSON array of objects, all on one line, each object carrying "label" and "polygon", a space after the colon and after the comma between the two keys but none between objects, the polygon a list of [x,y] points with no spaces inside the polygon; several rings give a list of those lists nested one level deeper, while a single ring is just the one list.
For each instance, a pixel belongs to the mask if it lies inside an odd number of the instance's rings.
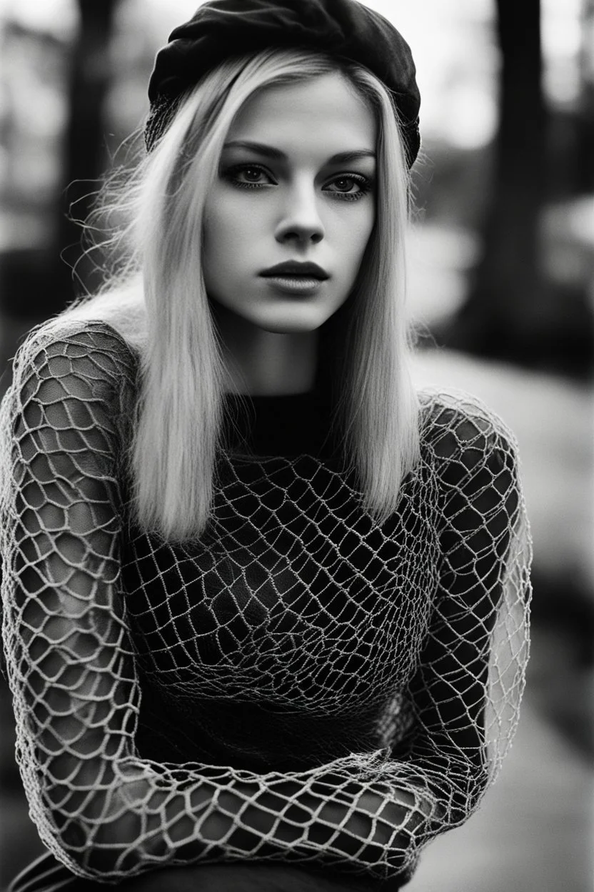
[{"label": "woman's long straight blonde hair hanging below the beret", "polygon": [[129,450],[134,519],[169,541],[203,533],[221,442],[224,364],[201,273],[201,241],[207,191],[218,175],[226,134],[256,91],[336,70],[344,71],[378,118],[378,202],[370,244],[343,314],[335,423],[347,465],[378,520],[394,512],[403,475],[418,460],[418,405],[404,303],[409,185],[390,96],[360,66],[305,50],[229,60],[183,100],[120,194],[117,206],[129,222],[112,240],[112,247],[126,247],[118,272],[100,293],[54,320],[102,319],[140,354],[137,423]]}]

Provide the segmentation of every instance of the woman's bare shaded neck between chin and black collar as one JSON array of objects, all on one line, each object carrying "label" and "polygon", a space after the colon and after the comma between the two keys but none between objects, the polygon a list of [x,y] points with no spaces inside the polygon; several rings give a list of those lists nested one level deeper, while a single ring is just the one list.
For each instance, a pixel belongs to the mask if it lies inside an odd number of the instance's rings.
[{"label": "woman's bare shaded neck between chin and black collar", "polygon": [[313,389],[317,331],[264,331],[220,305],[216,319],[231,392],[281,396]]}]

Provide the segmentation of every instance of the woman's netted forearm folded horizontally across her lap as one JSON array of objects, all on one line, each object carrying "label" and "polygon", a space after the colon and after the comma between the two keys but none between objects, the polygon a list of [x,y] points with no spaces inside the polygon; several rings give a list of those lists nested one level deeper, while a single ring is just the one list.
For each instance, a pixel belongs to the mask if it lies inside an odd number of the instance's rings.
[{"label": "woman's netted forearm folded horizontally across her lap", "polygon": [[387,878],[414,863],[435,818],[418,790],[354,781],[344,769],[249,776],[191,766],[161,775],[135,765],[118,770],[118,786],[78,819],[68,848],[85,875],[281,858]]}]

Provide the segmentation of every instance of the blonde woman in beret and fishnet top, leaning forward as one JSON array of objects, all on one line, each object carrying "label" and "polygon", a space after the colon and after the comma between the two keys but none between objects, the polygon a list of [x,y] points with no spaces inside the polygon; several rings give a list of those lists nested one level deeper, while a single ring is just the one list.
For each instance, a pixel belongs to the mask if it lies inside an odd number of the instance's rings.
[{"label": "blonde woman in beret and fishnet top, leaning forward", "polygon": [[499,419],[411,386],[410,49],[211,0],[150,95],[126,262],[2,409],[12,888],[400,888],[509,744],[529,551]]}]

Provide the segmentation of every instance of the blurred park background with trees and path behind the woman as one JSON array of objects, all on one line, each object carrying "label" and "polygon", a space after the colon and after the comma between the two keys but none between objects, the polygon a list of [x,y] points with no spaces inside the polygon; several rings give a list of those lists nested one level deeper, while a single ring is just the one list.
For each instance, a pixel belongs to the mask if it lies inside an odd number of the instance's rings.
[{"label": "blurred park background with trees and path behind the woman", "polygon": [[[93,289],[80,228],[142,125],[154,54],[195,0],[0,0],[0,393],[22,336]],[[516,432],[534,539],[516,743],[410,892],[591,892],[594,632],[594,0],[368,0],[411,43],[419,384]],[[68,188],[67,188],[68,187]],[[74,271],[73,271],[73,267]],[[0,888],[41,852],[0,683]]]}]

